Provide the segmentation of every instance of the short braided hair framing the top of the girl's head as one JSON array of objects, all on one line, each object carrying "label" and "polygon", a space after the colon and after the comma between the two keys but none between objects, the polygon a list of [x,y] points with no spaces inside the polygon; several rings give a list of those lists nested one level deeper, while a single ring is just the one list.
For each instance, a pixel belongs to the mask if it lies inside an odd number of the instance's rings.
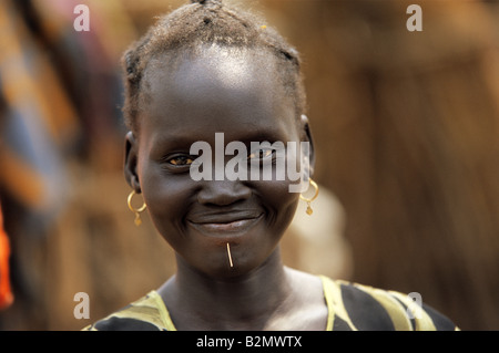
[{"label": "short braided hair framing the top of the girl's head", "polygon": [[[144,71],[159,54],[180,55],[205,44],[262,49],[274,54],[279,77],[287,95],[295,102],[296,116],[305,111],[305,90],[298,52],[275,30],[253,14],[227,7],[222,0],[191,0],[170,14],[161,17],[146,34],[131,45],[122,58],[125,73],[125,125],[138,132],[139,113],[144,104]],[[163,58],[162,58],[163,60]]]}]

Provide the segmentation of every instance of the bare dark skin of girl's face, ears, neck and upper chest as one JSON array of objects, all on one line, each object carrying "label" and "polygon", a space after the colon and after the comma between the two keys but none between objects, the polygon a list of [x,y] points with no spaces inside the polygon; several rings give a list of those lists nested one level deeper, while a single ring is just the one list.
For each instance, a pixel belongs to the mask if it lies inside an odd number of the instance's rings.
[{"label": "bare dark skin of girl's face, ears, neck and upper chest", "polygon": [[[278,242],[299,199],[288,191],[294,181],[195,181],[189,173],[191,145],[207,142],[214,152],[215,133],[225,144],[312,145],[308,121],[296,117],[276,64],[271,53],[210,46],[173,71],[160,60],[146,69],[149,103],[140,132],[126,135],[125,177],[175,250],[176,274],[159,293],[177,330],[326,326],[320,280],[281,261]],[[251,154],[248,163],[264,157]]]}]

